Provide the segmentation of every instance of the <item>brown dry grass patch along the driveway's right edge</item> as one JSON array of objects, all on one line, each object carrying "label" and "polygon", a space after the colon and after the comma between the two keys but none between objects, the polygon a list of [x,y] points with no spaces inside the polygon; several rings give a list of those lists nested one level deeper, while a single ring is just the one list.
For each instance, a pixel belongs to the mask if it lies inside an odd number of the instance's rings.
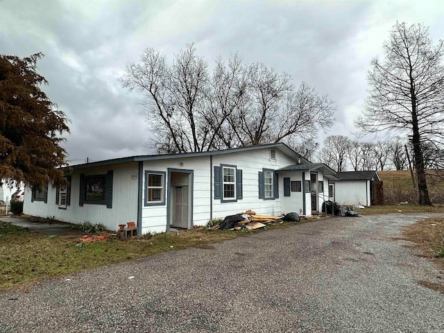
[{"label": "brown dry grass patch along the driveway's right edge", "polygon": [[[409,225],[402,232],[404,239],[413,241],[414,248],[418,248],[423,257],[431,260],[441,270],[441,275],[438,278],[443,279],[444,273],[444,257],[436,257],[439,250],[444,249],[444,219],[425,219],[418,221],[413,225]],[[429,282],[419,281],[423,286],[444,293],[444,281]]]}]

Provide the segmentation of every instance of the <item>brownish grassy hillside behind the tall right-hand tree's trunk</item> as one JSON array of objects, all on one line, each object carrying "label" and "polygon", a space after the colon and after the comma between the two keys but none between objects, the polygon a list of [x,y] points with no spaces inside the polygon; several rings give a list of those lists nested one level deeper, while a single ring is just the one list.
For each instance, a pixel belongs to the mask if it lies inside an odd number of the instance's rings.
[{"label": "brownish grassy hillside behind the tall right-hand tree's trunk", "polygon": [[[414,171],[416,190],[409,170],[377,171],[377,173],[384,184],[384,203],[395,204],[405,201],[418,203],[418,185]],[[432,202],[444,203],[444,170],[429,170],[427,173],[427,189]]]}]

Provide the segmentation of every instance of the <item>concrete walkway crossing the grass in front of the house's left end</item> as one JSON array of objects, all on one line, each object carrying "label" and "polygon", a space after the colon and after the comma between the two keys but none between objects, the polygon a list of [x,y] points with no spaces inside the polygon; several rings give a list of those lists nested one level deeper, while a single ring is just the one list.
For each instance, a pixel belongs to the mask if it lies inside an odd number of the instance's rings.
[{"label": "concrete walkway crossing the grass in front of the house's left end", "polygon": [[0,216],[0,221],[9,222],[22,228],[28,228],[33,231],[42,232],[44,234],[55,234],[61,238],[80,238],[86,232],[72,230],[70,223],[63,222],[33,222],[26,219],[20,219],[15,216]]}]

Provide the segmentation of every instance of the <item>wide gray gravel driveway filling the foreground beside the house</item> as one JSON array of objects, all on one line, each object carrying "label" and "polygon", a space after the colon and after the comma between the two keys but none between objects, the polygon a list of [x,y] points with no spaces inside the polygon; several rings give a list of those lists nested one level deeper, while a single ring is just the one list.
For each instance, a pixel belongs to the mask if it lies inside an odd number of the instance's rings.
[{"label": "wide gray gravel driveway filling the foreground beside the house", "polygon": [[427,216],[336,217],[47,280],[0,293],[0,332],[443,333],[444,296],[417,283],[440,272],[392,239]]}]

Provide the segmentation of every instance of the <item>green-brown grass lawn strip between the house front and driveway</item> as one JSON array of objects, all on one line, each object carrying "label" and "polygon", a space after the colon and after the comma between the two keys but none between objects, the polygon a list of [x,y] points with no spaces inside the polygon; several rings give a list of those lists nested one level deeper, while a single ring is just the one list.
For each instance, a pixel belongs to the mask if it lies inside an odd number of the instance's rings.
[{"label": "green-brown grass lawn strip between the house front and driveway", "polygon": [[[289,225],[291,223],[282,223],[267,228]],[[245,234],[248,233],[210,231],[200,227],[179,234],[154,234],[125,241],[109,238],[80,246],[78,239],[62,239],[0,221],[0,291],[169,250],[214,244]]]}]

